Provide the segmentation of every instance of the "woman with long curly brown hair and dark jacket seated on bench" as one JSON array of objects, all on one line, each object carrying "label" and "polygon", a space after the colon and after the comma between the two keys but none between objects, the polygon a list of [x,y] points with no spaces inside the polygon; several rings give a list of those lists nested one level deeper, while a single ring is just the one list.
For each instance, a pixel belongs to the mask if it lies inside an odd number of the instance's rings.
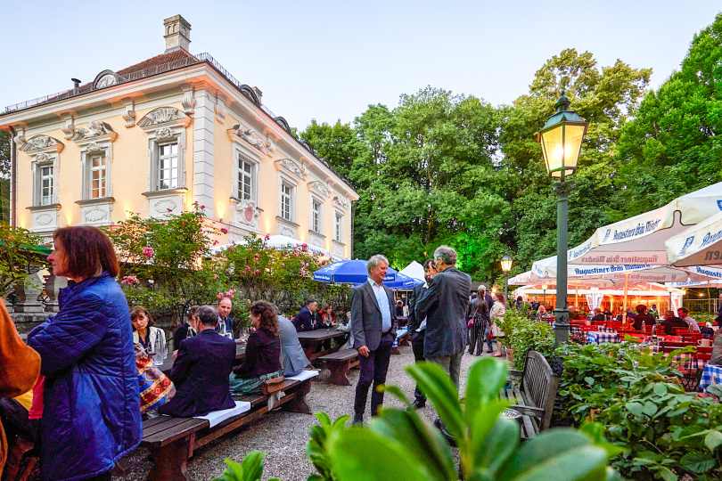
[{"label": "woman with long curly brown hair and dark jacket seated on bench", "polygon": [[264,300],[250,305],[250,324],[256,330],[248,337],[243,363],[234,367],[232,395],[260,394],[263,381],[283,376],[277,312],[273,304]]}]

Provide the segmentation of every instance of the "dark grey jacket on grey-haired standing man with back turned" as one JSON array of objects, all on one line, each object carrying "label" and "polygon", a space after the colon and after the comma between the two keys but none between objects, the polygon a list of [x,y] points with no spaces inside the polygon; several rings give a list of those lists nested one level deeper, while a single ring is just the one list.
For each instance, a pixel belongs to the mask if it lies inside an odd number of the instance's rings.
[{"label": "dark grey jacket on grey-haired standing man with back turned", "polygon": [[466,346],[466,308],[472,277],[449,267],[431,279],[423,298],[416,301],[416,316],[426,317],[423,356],[455,355]]}]

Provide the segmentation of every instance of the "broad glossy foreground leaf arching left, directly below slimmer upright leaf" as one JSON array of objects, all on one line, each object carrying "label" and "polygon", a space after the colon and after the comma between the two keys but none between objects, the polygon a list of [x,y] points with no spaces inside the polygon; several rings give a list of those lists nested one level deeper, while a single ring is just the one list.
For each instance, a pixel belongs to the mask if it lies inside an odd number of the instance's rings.
[{"label": "broad glossy foreground leaf arching left, directly below slimmer upright leaf", "polygon": [[[385,408],[371,420],[369,428],[379,436],[406,444],[407,455],[414,456],[420,466],[428,469],[431,478],[455,477],[454,459],[446,438],[416,412]],[[413,439],[414,443],[409,444],[409,439]]]}]

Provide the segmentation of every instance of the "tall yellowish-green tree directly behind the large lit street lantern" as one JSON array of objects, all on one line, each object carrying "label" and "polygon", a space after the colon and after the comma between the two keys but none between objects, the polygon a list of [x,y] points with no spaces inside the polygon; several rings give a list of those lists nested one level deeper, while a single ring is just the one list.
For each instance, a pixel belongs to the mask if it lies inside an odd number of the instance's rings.
[{"label": "tall yellowish-green tree directly behind the large lit street lantern", "polygon": [[[556,199],[546,174],[535,132],[554,112],[562,89],[571,109],[590,122],[570,194],[570,246],[585,240],[595,228],[619,216],[615,206],[617,162],[613,152],[621,127],[635,114],[649,83],[651,69],[634,69],[623,61],[599,68],[592,53],[566,49],[546,61],[529,86],[510,107],[500,132],[504,158],[499,164],[505,181],[501,192],[513,206],[513,236],[505,243],[524,267],[556,253]],[[615,219],[616,220],[616,219]],[[513,239],[510,239],[513,237]]]}]

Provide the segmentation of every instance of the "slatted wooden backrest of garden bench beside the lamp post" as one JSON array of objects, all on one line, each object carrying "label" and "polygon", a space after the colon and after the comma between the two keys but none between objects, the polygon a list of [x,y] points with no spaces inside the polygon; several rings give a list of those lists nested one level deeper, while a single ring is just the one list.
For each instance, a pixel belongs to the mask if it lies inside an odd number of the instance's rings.
[{"label": "slatted wooden backrest of garden bench beside the lamp post", "polygon": [[521,373],[521,395],[524,402],[544,410],[539,429],[549,428],[554,412],[554,399],[559,387],[559,376],[554,374],[552,366],[537,351],[529,351],[524,360],[524,371]]}]

